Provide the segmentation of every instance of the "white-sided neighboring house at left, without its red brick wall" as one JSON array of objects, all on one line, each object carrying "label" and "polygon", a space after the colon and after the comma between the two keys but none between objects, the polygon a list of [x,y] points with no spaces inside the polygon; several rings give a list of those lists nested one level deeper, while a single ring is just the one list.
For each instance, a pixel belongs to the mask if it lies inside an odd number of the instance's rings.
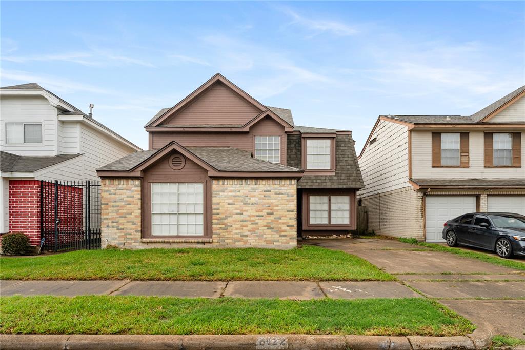
[{"label": "white-sided neighboring house at left, without its red brick wall", "polygon": [[38,84],[0,88],[0,233],[9,180],[98,180],[97,168],[140,150]]}]

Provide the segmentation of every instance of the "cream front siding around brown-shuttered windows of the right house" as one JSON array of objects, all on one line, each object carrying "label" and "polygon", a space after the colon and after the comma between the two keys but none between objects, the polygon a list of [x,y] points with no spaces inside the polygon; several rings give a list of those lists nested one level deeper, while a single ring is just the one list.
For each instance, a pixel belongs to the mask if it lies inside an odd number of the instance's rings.
[{"label": "cream front siding around brown-shuttered windows of the right house", "polygon": [[414,179],[524,179],[525,135],[521,133],[521,168],[485,168],[482,131],[470,131],[469,168],[432,168],[432,132],[412,131]]}]

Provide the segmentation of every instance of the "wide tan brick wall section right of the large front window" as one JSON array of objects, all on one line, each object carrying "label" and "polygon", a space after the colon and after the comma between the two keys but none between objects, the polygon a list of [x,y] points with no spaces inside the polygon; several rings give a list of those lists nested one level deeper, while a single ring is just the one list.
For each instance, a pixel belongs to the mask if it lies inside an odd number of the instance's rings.
[{"label": "wide tan brick wall section right of the large front window", "polygon": [[288,249],[297,245],[297,182],[213,180],[213,242]]}]

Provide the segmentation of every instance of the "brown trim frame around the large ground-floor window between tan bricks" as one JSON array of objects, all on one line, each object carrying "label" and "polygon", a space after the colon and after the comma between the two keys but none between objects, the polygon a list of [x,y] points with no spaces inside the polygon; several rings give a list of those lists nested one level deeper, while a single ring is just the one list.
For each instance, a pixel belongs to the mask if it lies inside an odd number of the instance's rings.
[{"label": "brown trim frame around the large ground-floor window between tan bricks", "polygon": [[[203,213],[203,234],[201,235],[154,235],[151,234],[151,183],[157,182],[185,182],[185,183],[203,183],[204,186],[204,213]],[[171,179],[149,179],[148,181],[142,181],[142,234],[141,239],[156,239],[156,240],[184,240],[184,239],[211,239],[211,212],[212,212],[212,196],[211,196],[211,183],[209,179],[195,179],[188,177],[181,177],[177,181]]]}]

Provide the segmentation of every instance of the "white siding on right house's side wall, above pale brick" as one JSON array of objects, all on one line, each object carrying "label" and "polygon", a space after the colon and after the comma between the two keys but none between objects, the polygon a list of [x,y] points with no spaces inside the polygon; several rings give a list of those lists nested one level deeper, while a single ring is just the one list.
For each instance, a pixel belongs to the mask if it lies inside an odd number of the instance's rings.
[{"label": "white siding on right house's side wall, above pale brick", "polygon": [[365,185],[361,197],[408,186],[407,127],[380,120],[370,139],[375,137],[359,160]]}]

